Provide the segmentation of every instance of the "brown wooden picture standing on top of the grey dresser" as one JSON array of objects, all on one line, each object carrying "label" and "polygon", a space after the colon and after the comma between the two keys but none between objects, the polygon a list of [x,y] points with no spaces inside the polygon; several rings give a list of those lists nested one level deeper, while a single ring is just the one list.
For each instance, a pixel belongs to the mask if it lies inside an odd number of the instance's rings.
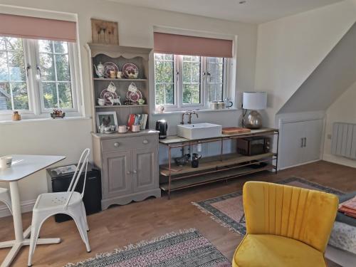
[{"label": "brown wooden picture standing on top of the grey dresser", "polygon": [[115,21],[91,19],[91,31],[93,43],[119,44],[119,31]]}]

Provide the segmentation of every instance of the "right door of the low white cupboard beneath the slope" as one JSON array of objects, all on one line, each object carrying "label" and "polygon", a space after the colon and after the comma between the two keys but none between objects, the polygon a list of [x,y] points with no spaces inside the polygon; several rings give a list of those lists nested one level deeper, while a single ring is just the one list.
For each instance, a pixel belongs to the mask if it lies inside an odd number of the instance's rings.
[{"label": "right door of the low white cupboard beneath the slope", "polygon": [[307,120],[304,123],[303,162],[311,162],[320,159],[323,120]]}]

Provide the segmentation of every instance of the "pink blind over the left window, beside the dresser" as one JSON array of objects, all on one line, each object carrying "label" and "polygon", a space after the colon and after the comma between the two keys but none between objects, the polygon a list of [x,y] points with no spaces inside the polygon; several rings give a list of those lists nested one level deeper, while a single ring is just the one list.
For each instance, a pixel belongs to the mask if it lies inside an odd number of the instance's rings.
[{"label": "pink blind over the left window, beside the dresser", "polygon": [[73,21],[11,14],[0,14],[0,21],[0,36],[68,42],[77,40],[76,25]]}]

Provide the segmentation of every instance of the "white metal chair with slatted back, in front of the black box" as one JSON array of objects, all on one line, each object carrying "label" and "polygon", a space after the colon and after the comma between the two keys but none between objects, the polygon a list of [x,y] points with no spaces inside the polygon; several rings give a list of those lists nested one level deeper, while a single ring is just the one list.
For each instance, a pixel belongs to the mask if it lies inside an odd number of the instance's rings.
[{"label": "white metal chair with slatted back, in front of the black box", "polygon": [[[89,240],[87,231],[89,231],[88,221],[83,204],[83,195],[86,182],[86,174],[88,169],[88,157],[90,149],[85,149],[80,156],[78,165],[73,174],[67,192],[45,193],[40,194],[33,207],[32,224],[31,224],[31,241],[30,250],[28,252],[28,266],[32,266],[32,257],[36,248],[38,234],[41,226],[48,217],[55,214],[68,214],[73,218],[78,227],[80,237],[85,243],[86,250],[90,252]],[[83,192],[80,194],[74,189],[80,179],[80,174],[85,167]]]}]

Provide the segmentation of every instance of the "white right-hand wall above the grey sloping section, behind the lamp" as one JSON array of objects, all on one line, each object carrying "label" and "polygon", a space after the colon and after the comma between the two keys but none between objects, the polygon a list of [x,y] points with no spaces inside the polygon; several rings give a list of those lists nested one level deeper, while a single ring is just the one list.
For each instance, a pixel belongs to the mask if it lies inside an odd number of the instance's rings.
[{"label": "white right-hand wall above the grey sloping section, behind the lamp", "polygon": [[355,6],[342,1],[258,26],[255,89],[268,92],[266,125],[276,126],[278,110],[355,21]]}]

